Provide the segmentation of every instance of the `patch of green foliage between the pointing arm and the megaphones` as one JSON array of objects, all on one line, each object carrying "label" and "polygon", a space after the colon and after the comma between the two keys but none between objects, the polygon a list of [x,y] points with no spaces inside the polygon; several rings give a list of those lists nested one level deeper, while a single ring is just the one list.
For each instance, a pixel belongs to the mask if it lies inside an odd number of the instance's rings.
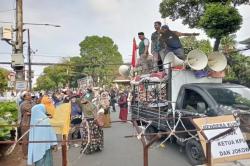
[{"label": "patch of green foliage between the pointing arm and the megaphones", "polygon": [[184,48],[199,49],[203,51],[206,55],[212,52],[212,47],[210,45],[209,40],[197,40],[196,37],[183,37],[181,38],[181,43]]}]

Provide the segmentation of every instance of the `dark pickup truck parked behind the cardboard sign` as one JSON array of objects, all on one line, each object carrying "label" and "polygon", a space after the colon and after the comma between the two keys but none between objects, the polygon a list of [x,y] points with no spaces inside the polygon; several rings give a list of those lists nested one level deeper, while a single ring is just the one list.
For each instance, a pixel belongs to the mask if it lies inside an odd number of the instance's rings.
[{"label": "dark pickup truck parked behind the cardboard sign", "polygon": [[[132,119],[151,122],[145,133],[171,131],[177,119],[166,120],[168,117],[181,115],[182,123],[178,123],[175,130],[183,131],[195,129],[190,117],[237,114],[240,117],[243,135],[246,140],[250,140],[250,127],[245,126],[250,124],[250,89],[247,87],[230,83],[183,83],[179,89],[173,90],[178,91],[174,102],[154,100],[146,103],[138,102],[136,100],[138,97],[134,97],[131,106]],[[138,124],[146,126],[145,122],[138,121]],[[174,138],[176,143],[185,148],[192,165],[205,162],[205,155],[196,134],[196,132],[186,132],[176,134],[177,137]]]}]

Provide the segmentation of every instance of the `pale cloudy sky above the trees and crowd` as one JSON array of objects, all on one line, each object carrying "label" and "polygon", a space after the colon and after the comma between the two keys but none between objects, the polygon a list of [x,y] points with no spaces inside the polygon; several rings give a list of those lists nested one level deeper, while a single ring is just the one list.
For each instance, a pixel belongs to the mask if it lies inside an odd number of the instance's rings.
[{"label": "pale cloudy sky above the trees and crowd", "polygon": [[[154,21],[166,22],[170,29],[180,32],[198,32],[199,39],[206,39],[203,31],[189,29],[181,20],[161,19],[159,4],[161,0],[23,0],[24,22],[39,24],[56,24],[61,27],[32,26],[29,28],[33,62],[60,62],[69,56],[77,56],[80,52],[79,43],[86,36],[109,36],[118,45],[124,62],[131,61],[132,40],[137,33],[143,31],[150,38],[154,31]],[[15,0],[0,0],[1,21],[15,20]],[[10,10],[10,11],[8,11]],[[243,24],[237,32],[237,41],[250,37],[250,6],[239,7],[243,16]],[[24,40],[27,41],[24,32]],[[213,42],[213,40],[211,40]],[[239,47],[243,47],[239,45]],[[27,55],[27,45],[24,54]],[[0,61],[10,61],[11,47],[0,40]],[[250,52],[246,52],[247,55]],[[27,60],[27,58],[25,59]],[[1,65],[9,68],[9,65]],[[42,73],[42,66],[32,66],[35,78]]]}]

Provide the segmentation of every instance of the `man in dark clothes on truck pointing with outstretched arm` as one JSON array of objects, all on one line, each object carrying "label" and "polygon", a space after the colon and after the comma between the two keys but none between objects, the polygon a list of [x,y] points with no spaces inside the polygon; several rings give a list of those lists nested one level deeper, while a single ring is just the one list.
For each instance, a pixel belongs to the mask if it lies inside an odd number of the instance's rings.
[{"label": "man in dark clothes on truck pointing with outstretched arm", "polygon": [[167,25],[161,27],[160,50],[161,60],[164,61],[165,56],[169,52],[173,52],[179,59],[185,60],[186,55],[179,39],[180,36],[198,36],[199,33],[181,33],[177,31],[171,31]]}]

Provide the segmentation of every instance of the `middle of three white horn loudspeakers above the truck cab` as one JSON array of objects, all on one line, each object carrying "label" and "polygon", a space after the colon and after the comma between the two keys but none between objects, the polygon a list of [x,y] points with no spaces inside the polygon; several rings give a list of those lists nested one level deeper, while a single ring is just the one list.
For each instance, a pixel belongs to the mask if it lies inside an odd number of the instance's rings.
[{"label": "middle of three white horn loudspeakers above the truck cab", "polygon": [[185,63],[193,70],[202,70],[207,66],[208,58],[205,53],[195,49],[188,53]]}]

